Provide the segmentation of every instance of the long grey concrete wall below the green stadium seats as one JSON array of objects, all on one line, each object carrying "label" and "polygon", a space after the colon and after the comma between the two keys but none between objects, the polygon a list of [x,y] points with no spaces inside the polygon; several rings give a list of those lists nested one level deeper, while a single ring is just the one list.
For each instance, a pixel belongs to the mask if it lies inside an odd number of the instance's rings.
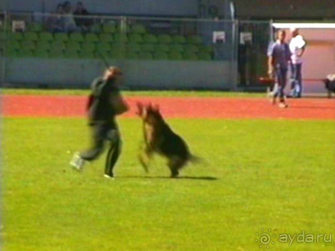
[{"label": "long grey concrete wall below the green stadium seats", "polygon": [[[132,89],[232,89],[230,63],[181,61],[111,61],[125,72],[125,88]],[[7,59],[6,82],[20,87],[86,88],[101,74],[101,60]]]}]

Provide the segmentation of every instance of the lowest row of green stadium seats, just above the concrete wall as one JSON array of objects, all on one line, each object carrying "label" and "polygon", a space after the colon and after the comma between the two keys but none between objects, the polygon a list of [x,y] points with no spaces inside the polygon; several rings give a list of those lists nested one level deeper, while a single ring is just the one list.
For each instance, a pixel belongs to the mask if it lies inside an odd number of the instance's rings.
[{"label": "lowest row of green stadium seats, just above the concrete wall", "polygon": [[142,59],[142,60],[212,60],[211,55],[205,52],[185,52],[180,53],[177,51],[164,52],[157,51],[155,53],[147,51],[127,51],[122,50],[112,50],[104,52],[94,52],[94,51],[78,51],[74,49],[9,49],[6,53],[8,57],[38,57],[38,58],[67,58],[67,59],[100,59],[101,56],[108,59]]}]

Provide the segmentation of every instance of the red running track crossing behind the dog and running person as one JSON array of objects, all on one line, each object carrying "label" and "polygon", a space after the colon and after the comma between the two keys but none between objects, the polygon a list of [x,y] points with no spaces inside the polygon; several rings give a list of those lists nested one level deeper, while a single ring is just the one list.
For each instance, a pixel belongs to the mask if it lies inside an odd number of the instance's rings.
[{"label": "red running track crossing behind the dog and running person", "polygon": [[[204,97],[128,97],[130,111],[123,117],[135,117],[136,102],[159,104],[167,118],[285,118],[335,119],[334,99],[288,100],[280,109],[265,98]],[[86,97],[49,95],[4,95],[4,117],[83,117]]]}]

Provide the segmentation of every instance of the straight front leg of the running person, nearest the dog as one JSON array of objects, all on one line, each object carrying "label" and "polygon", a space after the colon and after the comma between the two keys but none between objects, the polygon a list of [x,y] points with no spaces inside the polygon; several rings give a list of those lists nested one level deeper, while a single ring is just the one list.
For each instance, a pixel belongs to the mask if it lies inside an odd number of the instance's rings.
[{"label": "straight front leg of the running person, nearest the dog", "polygon": [[115,163],[119,159],[121,153],[121,137],[117,129],[112,129],[109,132],[108,140],[111,141],[111,146],[108,150],[106,165],[105,165],[105,176],[113,177],[113,168]]}]

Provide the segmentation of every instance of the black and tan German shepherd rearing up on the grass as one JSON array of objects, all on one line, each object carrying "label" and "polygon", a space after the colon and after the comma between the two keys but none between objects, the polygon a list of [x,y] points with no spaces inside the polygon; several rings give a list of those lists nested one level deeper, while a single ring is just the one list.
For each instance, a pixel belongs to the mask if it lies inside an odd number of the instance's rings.
[{"label": "black and tan German shepherd rearing up on the grass", "polygon": [[167,158],[171,177],[177,177],[179,170],[189,161],[198,157],[191,155],[186,142],[164,121],[158,106],[137,103],[137,114],[143,120],[144,144],[141,147],[139,160],[148,172],[148,164],[152,155],[158,153]]}]

